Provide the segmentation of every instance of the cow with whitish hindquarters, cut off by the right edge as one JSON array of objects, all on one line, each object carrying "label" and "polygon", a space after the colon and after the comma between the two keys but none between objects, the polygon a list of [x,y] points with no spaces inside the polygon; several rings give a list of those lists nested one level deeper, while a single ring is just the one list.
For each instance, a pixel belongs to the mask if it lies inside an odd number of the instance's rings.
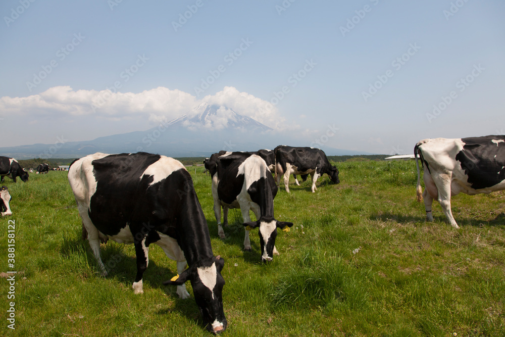
[{"label": "cow with whitish hindquarters, cut off by the right edge", "polygon": [[[423,166],[422,192],[418,155]],[[447,220],[459,228],[450,210],[450,196],[505,189],[505,136],[423,139],[414,148],[417,165],[417,199],[423,200],[428,221],[436,199]]]}]

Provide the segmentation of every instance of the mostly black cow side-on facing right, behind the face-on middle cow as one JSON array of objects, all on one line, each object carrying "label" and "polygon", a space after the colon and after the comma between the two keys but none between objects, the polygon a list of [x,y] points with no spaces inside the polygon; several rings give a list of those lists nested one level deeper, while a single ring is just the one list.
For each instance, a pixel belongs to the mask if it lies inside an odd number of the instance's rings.
[{"label": "mostly black cow side-on facing right, behind the face-on middle cow", "polygon": [[[312,176],[312,192],[317,189],[316,181],[323,174],[328,174],[331,181],[338,184],[338,170],[332,166],[326,158],[323,150],[315,148],[293,148],[290,146],[279,145],[274,150],[275,153],[275,174],[277,184],[280,184],[281,174],[284,175],[284,186],[289,193],[289,175],[290,174],[310,174]],[[296,184],[298,181],[296,180]],[[299,185],[299,184],[298,184]]]}]

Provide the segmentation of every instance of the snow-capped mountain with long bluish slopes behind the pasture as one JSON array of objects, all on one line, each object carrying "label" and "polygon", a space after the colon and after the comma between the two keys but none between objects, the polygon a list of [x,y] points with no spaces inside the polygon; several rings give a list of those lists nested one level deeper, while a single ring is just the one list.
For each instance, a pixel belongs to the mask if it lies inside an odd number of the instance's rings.
[{"label": "snow-capped mountain with long bluish slopes behind the pasture", "polygon": [[[146,131],[134,131],[69,141],[54,145],[34,144],[0,148],[0,155],[17,159],[81,158],[95,152],[135,153],[145,151],[170,157],[209,157],[220,150],[257,151],[278,145],[306,147],[310,141],[273,130],[224,106],[201,104],[178,118]],[[331,155],[371,155],[321,147]]]}]

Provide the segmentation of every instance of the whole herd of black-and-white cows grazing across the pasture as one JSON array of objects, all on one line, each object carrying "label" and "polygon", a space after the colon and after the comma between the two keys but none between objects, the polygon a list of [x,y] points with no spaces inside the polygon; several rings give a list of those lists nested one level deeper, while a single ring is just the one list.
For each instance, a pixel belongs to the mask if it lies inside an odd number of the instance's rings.
[{"label": "whole herd of black-and-white cows grazing across the pasture", "polygon": [[[436,199],[449,223],[459,228],[450,210],[450,196],[469,195],[505,189],[505,136],[457,139],[424,139],[414,148],[418,170],[418,200],[424,198],[427,220],[433,221],[431,206]],[[424,171],[425,190],[420,184],[419,159]],[[273,200],[281,175],[289,192],[291,174],[312,176],[316,181],[328,174],[339,183],[338,170],[323,151],[314,148],[278,146],[273,151],[225,152],[204,160],[212,179],[214,214],[218,235],[225,237],[221,222],[227,225],[230,208],[239,208],[245,227],[244,250],[251,250],[249,230],[258,228],[262,261],[271,261],[277,228],[288,231],[291,222],[274,218]],[[275,173],[277,183],[272,176]],[[0,175],[28,180],[13,158],[0,157]],[[148,247],[159,245],[167,257],[177,261],[178,275],[164,284],[177,285],[180,298],[189,297],[185,282],[193,287],[196,304],[206,328],[221,333],[227,327],[223,311],[221,270],[224,260],[214,256],[209,228],[201,209],[190,174],[177,160],[165,156],[136,153],[107,155],[96,153],[76,159],[68,179],[82,219],[83,237],[87,237],[100,273],[107,270],[100,259],[100,242],[109,238],[133,244],[137,274],[132,288],[141,294],[142,275],[148,264]],[[10,195],[2,186],[2,215],[10,215]],[[251,221],[249,210],[256,215]],[[186,269],[186,266],[188,267]]]}]

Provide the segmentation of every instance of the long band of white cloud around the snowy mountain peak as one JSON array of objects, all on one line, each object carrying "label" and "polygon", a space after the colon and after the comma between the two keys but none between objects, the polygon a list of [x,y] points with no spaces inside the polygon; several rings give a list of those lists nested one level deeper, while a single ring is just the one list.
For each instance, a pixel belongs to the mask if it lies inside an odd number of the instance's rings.
[{"label": "long band of white cloud around the snowy mountain peak", "polygon": [[[177,118],[203,102],[226,106],[272,128],[286,128],[285,119],[279,116],[276,107],[272,108],[267,101],[230,86],[214,95],[207,95],[201,101],[187,92],[165,87],[139,93],[113,93],[110,90],[74,90],[70,86],[55,86],[28,97],[2,97],[0,111],[26,116],[30,120],[86,115],[120,120],[144,116],[151,122],[160,123]],[[225,123],[222,118],[212,121],[215,127],[224,127]]]}]

